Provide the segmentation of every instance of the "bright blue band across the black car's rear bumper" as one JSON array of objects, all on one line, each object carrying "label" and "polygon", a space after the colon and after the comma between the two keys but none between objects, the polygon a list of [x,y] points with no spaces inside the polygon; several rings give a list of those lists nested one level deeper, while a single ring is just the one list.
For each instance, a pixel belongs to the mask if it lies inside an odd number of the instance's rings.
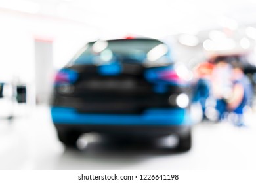
[{"label": "bright blue band across the black car's rear bumper", "polygon": [[74,108],[51,107],[54,124],[125,125],[125,126],[190,126],[190,118],[183,108],[150,108],[142,114],[89,114]]}]

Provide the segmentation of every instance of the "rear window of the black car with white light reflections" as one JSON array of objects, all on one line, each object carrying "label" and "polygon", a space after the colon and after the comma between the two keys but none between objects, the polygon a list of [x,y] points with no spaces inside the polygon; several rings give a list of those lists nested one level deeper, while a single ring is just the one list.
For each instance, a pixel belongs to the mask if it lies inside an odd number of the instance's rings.
[{"label": "rear window of the black car with white light reflections", "polygon": [[102,64],[113,61],[122,63],[171,63],[169,48],[155,39],[117,39],[86,44],[70,63]]}]

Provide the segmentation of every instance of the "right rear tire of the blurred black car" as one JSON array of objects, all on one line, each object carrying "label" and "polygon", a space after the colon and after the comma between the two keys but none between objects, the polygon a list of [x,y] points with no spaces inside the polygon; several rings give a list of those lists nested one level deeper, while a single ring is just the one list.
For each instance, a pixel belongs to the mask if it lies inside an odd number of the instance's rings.
[{"label": "right rear tire of the blurred black car", "polygon": [[177,150],[180,152],[186,152],[190,150],[192,146],[192,135],[191,135],[191,130],[186,133],[179,135],[179,144],[177,146]]}]

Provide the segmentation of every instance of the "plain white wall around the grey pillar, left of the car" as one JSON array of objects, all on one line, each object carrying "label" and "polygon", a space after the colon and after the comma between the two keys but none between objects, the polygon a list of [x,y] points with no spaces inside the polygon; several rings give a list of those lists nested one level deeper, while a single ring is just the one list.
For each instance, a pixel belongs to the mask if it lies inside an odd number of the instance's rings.
[{"label": "plain white wall around the grey pillar, left of the car", "polygon": [[53,66],[58,69],[100,30],[79,22],[0,10],[0,81],[35,80],[34,40],[53,41]]}]

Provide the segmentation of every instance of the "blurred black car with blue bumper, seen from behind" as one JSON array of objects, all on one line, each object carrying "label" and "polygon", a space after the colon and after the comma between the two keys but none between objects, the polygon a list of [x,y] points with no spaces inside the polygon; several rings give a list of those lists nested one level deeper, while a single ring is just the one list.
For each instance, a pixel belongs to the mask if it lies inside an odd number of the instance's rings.
[{"label": "blurred black car with blue bumper, seen from behind", "polygon": [[96,132],[142,139],[175,134],[179,150],[191,147],[186,71],[156,39],[89,42],[58,71],[52,97],[51,116],[66,146]]}]

